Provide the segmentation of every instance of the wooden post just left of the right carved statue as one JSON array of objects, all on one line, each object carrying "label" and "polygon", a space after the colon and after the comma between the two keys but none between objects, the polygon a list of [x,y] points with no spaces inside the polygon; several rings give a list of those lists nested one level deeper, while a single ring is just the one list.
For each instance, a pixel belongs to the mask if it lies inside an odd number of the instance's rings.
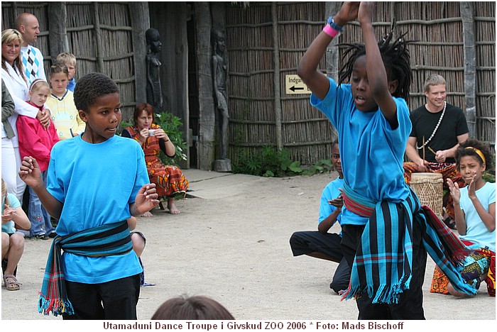
[{"label": "wooden post just left of the right carved statue", "polygon": [[196,2],[197,13],[197,67],[199,89],[199,140],[197,166],[199,170],[212,170],[215,144],[215,113],[212,93],[211,14],[208,2]]}]

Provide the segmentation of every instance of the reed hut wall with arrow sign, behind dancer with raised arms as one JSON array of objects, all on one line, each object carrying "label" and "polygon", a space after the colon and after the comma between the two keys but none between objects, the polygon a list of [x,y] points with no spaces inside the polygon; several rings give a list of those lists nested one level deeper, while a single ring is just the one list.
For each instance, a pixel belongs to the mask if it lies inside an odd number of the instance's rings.
[{"label": "reed hut wall with arrow sign, behind dancer with raised arms", "polygon": [[[459,2],[378,2],[376,5],[377,38],[390,31],[395,18],[397,33],[407,32],[406,38],[412,42],[410,109],[425,104],[423,83],[432,73],[447,79],[447,101],[466,108],[459,5]],[[278,147],[280,141],[282,148],[290,150],[293,160],[313,165],[318,160],[329,159],[332,126],[310,106],[308,94],[285,94],[285,75],[296,74],[302,55],[320,33],[324,18],[332,13],[325,13],[322,2],[276,3],[274,18],[272,6],[274,3],[227,5],[229,157],[236,163],[240,156],[260,153],[263,145]],[[495,4],[478,2],[474,7],[476,138],[493,145],[496,139]],[[273,26],[277,29],[277,38],[273,38]],[[359,24],[347,24],[339,42],[362,43]],[[339,55],[343,50],[339,48]],[[273,60],[274,52],[278,54],[278,64]],[[326,68],[327,62],[323,60],[320,69],[325,72]],[[278,79],[275,74],[279,75]],[[275,87],[275,82],[279,82],[279,87]]]}]

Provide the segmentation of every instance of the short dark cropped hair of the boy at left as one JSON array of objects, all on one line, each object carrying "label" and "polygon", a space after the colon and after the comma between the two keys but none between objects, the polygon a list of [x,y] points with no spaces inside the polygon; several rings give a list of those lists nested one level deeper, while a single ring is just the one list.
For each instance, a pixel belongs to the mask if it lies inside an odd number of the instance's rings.
[{"label": "short dark cropped hair of the boy at left", "polygon": [[74,92],[75,106],[78,110],[89,111],[89,106],[101,96],[119,94],[119,87],[110,77],[92,72],[77,80]]}]

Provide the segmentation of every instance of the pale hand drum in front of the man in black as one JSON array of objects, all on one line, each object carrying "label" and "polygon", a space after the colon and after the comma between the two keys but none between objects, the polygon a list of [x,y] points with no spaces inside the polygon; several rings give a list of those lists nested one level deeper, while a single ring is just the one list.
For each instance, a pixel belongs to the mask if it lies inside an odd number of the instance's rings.
[{"label": "pale hand drum in front of the man in black", "polygon": [[410,187],[413,188],[422,205],[428,206],[442,218],[444,179],[440,173],[413,173]]}]

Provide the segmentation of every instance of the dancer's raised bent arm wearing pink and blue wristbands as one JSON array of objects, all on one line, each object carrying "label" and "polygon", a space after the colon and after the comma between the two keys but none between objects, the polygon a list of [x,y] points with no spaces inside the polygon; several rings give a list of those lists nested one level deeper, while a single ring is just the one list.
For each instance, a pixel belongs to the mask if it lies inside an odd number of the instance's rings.
[{"label": "dancer's raised bent arm wearing pink and blue wristbands", "polygon": [[[333,16],[333,21],[339,26],[344,26],[347,22],[354,21],[357,18],[358,10],[359,2],[344,2],[339,12]],[[322,57],[324,57],[326,48],[332,39],[330,35],[321,31],[312,41],[297,67],[297,74],[319,99],[324,99],[327,95],[329,81],[325,74],[317,70],[317,66],[320,64]]]}]

